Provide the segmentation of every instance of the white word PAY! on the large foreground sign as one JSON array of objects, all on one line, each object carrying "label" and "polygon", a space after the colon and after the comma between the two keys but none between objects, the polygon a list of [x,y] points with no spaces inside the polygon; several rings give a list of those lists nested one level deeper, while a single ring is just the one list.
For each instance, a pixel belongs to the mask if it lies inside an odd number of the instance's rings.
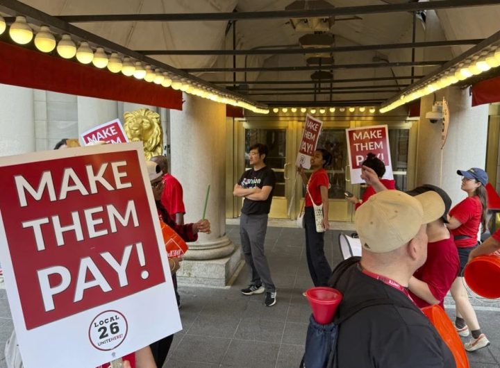
[{"label": "white word PAY! on the large foreground sign", "polygon": [[[122,260],[118,262],[115,257],[110,252],[103,252],[100,254],[103,260],[106,260],[107,264],[113,269],[119,281],[119,287],[124,287],[128,285],[128,277],[126,274],[126,269],[129,265],[131,259],[131,253],[133,248],[136,248],[139,258],[139,265],[144,267],[146,265],[146,260],[144,259],[144,250],[142,249],[142,242],[136,244],[130,244],[124,247],[124,252],[122,255]],[[56,307],[54,305],[54,296],[65,292],[75,282],[75,292],[73,301],[81,301],[83,299],[83,294],[85,290],[91,289],[92,287],[100,287],[103,292],[110,292],[112,287],[110,283],[106,280],[106,277],[99,270],[96,263],[92,258],[85,257],[80,260],[80,266],[78,267],[78,274],[76,275],[76,281],[74,281],[74,275],[71,274],[69,269],[63,266],[52,266],[46,269],[39,269],[37,271],[38,282],[40,283],[40,291],[42,292],[42,301],[44,303],[45,311],[54,310]],[[92,278],[88,279],[88,274]],[[55,275],[60,278],[60,283],[51,285],[51,279],[53,280]],[[141,277],[147,278],[149,276],[148,271],[141,271]],[[56,278],[57,279],[57,278]]]}]

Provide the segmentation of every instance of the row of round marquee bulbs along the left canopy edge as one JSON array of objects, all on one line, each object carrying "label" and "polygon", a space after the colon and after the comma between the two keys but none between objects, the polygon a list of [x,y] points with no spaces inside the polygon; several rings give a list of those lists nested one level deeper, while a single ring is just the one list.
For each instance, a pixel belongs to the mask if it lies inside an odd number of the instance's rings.
[{"label": "row of round marquee bulbs along the left canopy edge", "polygon": [[[0,15],[0,35],[6,30],[6,22]],[[9,28],[10,38],[17,44],[28,44],[33,40],[33,29],[26,22],[26,18],[17,16],[14,23]],[[160,69],[153,69],[151,65],[144,67],[142,62],[131,60],[131,58],[119,57],[118,53],[113,52],[108,57],[102,47],[97,47],[96,51],[92,51],[88,42],[80,42],[78,49],[69,35],[62,35],[59,42],[56,42],[56,37],[51,33],[48,26],[40,26],[40,31],[35,35],[35,47],[44,53],[49,53],[56,49],[61,58],[72,59],[76,57],[78,62],[82,64],[92,64],[99,69],[108,68],[112,73],[122,72],[125,76],[134,76],[137,79],[144,79],[149,83],[163,85],[163,87],[172,87],[174,90],[181,90],[194,96],[199,96],[203,99],[210,99],[219,103],[227,103],[232,106],[246,108],[259,114],[269,113],[267,108],[259,108],[246,101],[234,99],[229,94],[224,94],[213,88],[188,81],[186,78],[176,78],[167,72],[162,72]]]}]

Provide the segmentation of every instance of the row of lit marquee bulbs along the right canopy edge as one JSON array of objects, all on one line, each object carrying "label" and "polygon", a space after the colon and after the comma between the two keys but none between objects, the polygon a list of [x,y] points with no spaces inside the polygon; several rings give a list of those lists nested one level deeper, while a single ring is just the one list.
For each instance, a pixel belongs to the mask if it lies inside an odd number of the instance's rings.
[{"label": "row of lit marquee bulbs along the right canopy edge", "polygon": [[483,51],[481,55],[473,56],[469,60],[465,60],[464,62],[456,65],[456,67],[447,69],[441,74],[438,74],[437,76],[435,76],[435,78],[433,78],[432,81],[429,81],[426,85],[418,87],[417,89],[412,91],[410,90],[406,92],[406,94],[402,94],[399,99],[381,108],[380,112],[384,113],[390,111],[410,101],[424,97],[427,94],[431,94],[437,90],[446,88],[449,85],[458,83],[459,81],[465,81],[465,79],[467,78],[476,76],[483,72],[487,72],[488,70],[499,66],[500,49],[497,49],[497,47],[492,47],[492,50],[490,50],[489,52]]}]

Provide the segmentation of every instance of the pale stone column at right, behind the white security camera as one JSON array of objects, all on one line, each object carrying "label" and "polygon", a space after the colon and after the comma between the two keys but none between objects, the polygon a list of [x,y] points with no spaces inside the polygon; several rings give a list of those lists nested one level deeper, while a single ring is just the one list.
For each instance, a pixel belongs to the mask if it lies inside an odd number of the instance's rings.
[{"label": "pale stone column at right, behind the white security camera", "polygon": [[[441,124],[431,124],[425,118],[434,99],[447,99],[450,111],[448,137],[441,151]],[[481,167],[485,169],[488,106],[471,107],[469,90],[447,87],[422,98],[417,143],[416,184],[440,185],[453,204],[465,197],[460,190],[457,169]],[[442,165],[441,165],[442,157]],[[442,174],[441,174],[442,172]]]}]

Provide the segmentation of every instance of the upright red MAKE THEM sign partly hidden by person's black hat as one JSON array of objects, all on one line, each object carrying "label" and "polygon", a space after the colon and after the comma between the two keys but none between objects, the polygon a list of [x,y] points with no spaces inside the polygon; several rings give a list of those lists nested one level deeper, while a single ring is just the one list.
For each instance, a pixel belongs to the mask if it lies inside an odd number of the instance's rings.
[{"label": "upright red MAKE THEM sign partly hidden by person's black hat", "polygon": [[386,125],[346,129],[346,134],[353,184],[364,183],[363,179],[360,178],[361,164],[367,158],[368,153],[374,153],[384,162],[384,178],[392,178],[389,136]]}]

